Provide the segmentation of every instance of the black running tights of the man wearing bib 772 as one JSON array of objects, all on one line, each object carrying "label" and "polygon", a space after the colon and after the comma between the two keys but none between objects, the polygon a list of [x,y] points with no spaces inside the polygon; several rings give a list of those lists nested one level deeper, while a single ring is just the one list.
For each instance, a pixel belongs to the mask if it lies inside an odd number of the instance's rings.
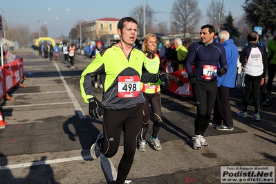
[{"label": "black running tights of the man wearing bib 772", "polygon": [[197,80],[196,86],[193,87],[193,93],[197,111],[194,121],[194,134],[204,136],[216,100],[217,79],[212,82]]}]

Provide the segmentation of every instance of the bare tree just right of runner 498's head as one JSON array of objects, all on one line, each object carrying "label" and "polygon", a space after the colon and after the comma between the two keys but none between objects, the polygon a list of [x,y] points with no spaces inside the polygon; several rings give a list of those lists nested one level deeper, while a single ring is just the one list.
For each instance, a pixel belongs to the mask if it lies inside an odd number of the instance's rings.
[{"label": "bare tree just right of runner 498's head", "polygon": [[[138,36],[142,36],[144,32],[143,24],[143,14],[144,13],[144,6],[137,6],[136,8],[133,8],[129,15],[136,19],[137,26],[138,26]],[[146,33],[149,33],[149,29],[151,29],[152,24],[152,18],[154,16],[154,10],[150,8],[148,5],[145,7],[145,22],[146,22]]]}]

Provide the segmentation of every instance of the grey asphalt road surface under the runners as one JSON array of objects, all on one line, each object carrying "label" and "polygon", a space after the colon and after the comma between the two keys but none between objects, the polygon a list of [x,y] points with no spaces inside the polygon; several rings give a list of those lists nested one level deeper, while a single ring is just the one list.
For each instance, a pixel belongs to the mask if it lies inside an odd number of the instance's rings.
[{"label": "grey asphalt road surface under the runners", "polygon": [[[76,55],[71,70],[62,55],[60,61],[17,55],[24,58],[26,88],[12,89],[13,101],[1,100],[8,124],[0,129],[0,183],[113,183],[123,147],[113,158],[101,155],[92,160],[89,155],[102,132],[102,119],[89,117],[80,95],[80,74],[91,60]],[[95,91],[101,98],[102,90]],[[241,110],[242,91],[233,89],[230,96],[234,131],[217,131],[210,125],[205,135],[210,147],[195,150],[190,142],[193,99],[163,91],[163,149],[155,151],[150,145],[145,152],[136,151],[131,183],[221,183],[221,166],[276,166],[276,100],[261,106],[261,121],[253,122],[252,107],[250,117],[235,116]]]}]

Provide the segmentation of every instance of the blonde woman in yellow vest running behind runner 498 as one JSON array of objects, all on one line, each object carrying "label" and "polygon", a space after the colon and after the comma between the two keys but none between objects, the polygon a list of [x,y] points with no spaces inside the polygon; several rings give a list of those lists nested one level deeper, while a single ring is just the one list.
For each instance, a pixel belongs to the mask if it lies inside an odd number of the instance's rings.
[{"label": "blonde woman in yellow vest running behind runner 498", "polygon": [[[158,73],[160,71],[164,72],[163,67],[160,66],[160,57],[156,53],[157,43],[158,41],[156,35],[151,33],[146,35],[144,42],[142,43],[142,50],[146,55],[144,65],[149,73]],[[183,86],[183,82],[181,82],[181,80],[179,80],[177,77],[169,75],[169,80],[174,80],[174,82],[176,82],[178,86]],[[162,145],[160,144],[160,140],[158,139],[158,132],[162,123],[160,84],[162,84],[162,81],[160,80],[156,83],[140,83],[140,89],[145,97],[146,102],[142,107],[142,134],[138,147],[139,151],[146,151],[146,146],[148,145],[146,141],[146,134],[149,129],[150,122],[149,104],[154,113],[154,124],[152,126],[153,131],[150,136],[150,141],[154,145],[154,149],[156,149],[157,151],[162,149]]]}]

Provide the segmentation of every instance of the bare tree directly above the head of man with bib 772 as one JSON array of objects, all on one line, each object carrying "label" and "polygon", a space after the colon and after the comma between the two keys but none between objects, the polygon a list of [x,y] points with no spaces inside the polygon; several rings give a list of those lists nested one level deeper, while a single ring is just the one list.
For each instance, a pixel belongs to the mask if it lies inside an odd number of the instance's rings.
[{"label": "bare tree directly above the head of man with bib 772", "polygon": [[[219,30],[219,23],[223,22],[225,17],[224,12],[226,12],[226,10],[224,10],[221,1],[212,0],[209,7],[207,8],[206,21],[209,22],[209,24],[212,24],[216,30]],[[219,13],[221,13],[221,20],[219,20]]]}]

